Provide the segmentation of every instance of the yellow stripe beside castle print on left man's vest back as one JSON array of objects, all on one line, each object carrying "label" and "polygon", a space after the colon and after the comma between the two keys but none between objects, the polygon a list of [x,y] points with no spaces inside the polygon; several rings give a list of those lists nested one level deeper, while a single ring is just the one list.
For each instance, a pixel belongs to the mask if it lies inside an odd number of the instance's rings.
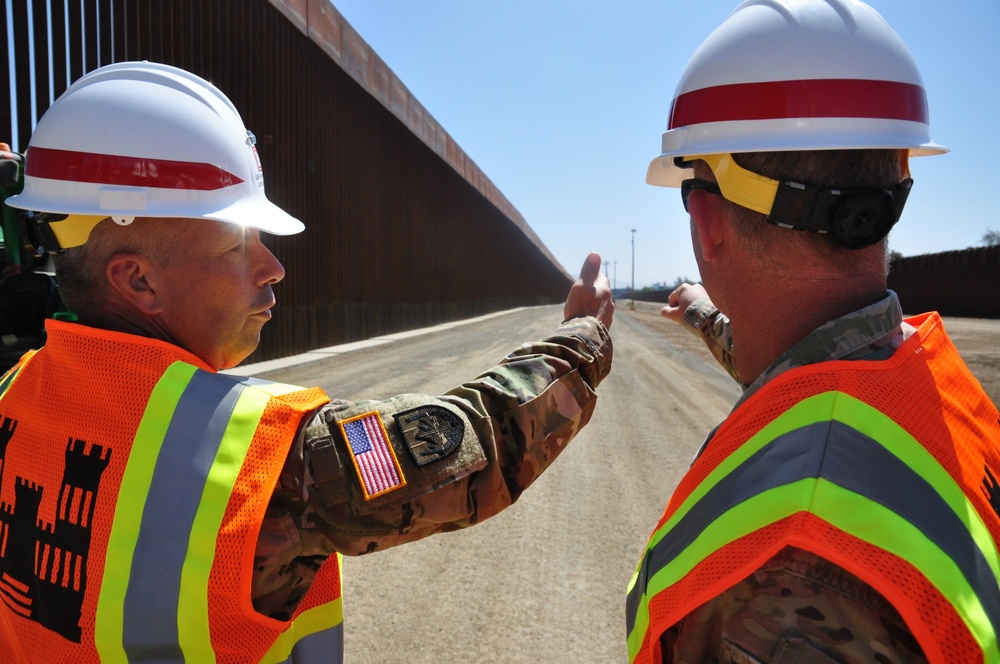
[{"label": "yellow stripe beside castle print on left man's vest back", "polygon": [[94,644],[102,662],[127,662],[123,646],[125,592],[132,571],[132,556],[139,524],[153,479],[160,447],[173,418],[174,408],[196,368],[180,362],[171,365],[153,388],[150,403],[136,430],[135,443],[122,477],[115,519],[108,538],[104,579],[94,621]]}]

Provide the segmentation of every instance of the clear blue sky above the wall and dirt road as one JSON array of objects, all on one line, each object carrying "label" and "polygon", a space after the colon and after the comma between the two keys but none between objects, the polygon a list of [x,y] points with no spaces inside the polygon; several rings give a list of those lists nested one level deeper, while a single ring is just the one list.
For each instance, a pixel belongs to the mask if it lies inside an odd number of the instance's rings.
[{"label": "clear blue sky above the wall and dirt road", "polygon": [[[737,0],[334,0],[557,260],[617,285],[698,278],[677,190],[644,182],[681,70]],[[1000,0],[870,0],[909,46],[931,138],[891,248],[981,246],[1000,230]]]}]

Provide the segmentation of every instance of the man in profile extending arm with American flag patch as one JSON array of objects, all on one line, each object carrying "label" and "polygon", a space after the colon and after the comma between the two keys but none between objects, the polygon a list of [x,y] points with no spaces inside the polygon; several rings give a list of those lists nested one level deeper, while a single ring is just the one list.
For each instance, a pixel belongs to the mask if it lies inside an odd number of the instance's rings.
[{"label": "man in profile extending arm with American flag patch", "polygon": [[496,514],[593,413],[614,309],[597,254],[553,336],[479,378],[330,402],[218,373],[284,276],[262,234],[303,229],[218,89],[103,67],[25,158],[8,203],[79,323],[47,321],[0,380],[4,662],[342,661],[340,554]]}]

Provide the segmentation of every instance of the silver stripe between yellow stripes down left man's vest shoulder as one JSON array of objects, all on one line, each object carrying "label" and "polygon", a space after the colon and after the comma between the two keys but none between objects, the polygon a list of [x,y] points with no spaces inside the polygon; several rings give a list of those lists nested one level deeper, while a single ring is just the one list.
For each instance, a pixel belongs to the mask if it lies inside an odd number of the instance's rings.
[{"label": "silver stripe between yellow stripes down left man's vest shoulder", "polygon": [[122,640],[129,659],[183,661],[177,634],[181,570],[206,478],[243,389],[197,371],[174,410],[146,499],[125,596]]}]

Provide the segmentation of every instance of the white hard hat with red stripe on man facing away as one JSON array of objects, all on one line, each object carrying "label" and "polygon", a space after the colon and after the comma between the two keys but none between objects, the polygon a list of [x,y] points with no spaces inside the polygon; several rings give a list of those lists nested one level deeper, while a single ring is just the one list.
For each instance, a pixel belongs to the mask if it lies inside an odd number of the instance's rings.
[{"label": "white hard hat with red stripe on man facing away", "polygon": [[646,181],[680,186],[677,157],[864,148],[947,152],[899,35],[858,0],[747,0],[681,74]]}]

